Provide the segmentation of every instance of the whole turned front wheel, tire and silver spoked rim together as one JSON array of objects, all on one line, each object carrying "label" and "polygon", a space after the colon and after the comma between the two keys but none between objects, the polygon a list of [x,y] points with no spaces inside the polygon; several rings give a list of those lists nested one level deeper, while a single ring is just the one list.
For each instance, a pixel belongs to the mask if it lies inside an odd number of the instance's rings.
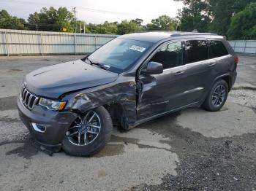
[{"label": "whole turned front wheel, tire and silver spoked rim together", "polygon": [[62,141],[62,148],[69,155],[94,155],[108,143],[112,129],[110,114],[103,106],[99,106],[80,114],[72,122]]}]

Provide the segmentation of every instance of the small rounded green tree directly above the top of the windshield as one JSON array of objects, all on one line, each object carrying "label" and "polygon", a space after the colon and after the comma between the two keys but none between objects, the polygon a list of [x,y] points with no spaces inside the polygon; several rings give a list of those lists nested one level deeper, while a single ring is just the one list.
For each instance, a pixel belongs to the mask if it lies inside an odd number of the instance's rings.
[{"label": "small rounded green tree directly above the top of the windshield", "polygon": [[121,23],[117,25],[118,34],[129,34],[140,31],[141,28],[137,23],[132,22],[132,20],[122,20]]}]

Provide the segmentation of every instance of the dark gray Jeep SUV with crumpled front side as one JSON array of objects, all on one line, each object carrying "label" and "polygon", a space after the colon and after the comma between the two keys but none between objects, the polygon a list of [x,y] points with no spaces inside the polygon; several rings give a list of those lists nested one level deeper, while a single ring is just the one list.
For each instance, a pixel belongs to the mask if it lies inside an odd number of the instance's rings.
[{"label": "dark gray Jeep SUV with crumpled front side", "polygon": [[78,61],[26,75],[21,120],[52,152],[99,152],[113,124],[124,130],[190,106],[218,111],[238,57],[223,36],[146,32],[119,36]]}]

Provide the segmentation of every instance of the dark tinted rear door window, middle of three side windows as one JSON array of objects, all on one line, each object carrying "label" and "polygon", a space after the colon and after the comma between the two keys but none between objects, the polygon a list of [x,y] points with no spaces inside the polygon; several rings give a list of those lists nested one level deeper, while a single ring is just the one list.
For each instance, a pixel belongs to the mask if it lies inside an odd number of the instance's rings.
[{"label": "dark tinted rear door window, middle of three side windows", "polygon": [[204,40],[187,41],[185,45],[186,63],[209,59],[208,46]]}]

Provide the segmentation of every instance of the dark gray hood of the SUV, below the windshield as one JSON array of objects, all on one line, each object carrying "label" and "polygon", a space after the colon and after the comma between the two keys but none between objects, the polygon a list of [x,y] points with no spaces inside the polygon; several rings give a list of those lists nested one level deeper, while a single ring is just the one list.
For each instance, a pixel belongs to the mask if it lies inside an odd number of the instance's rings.
[{"label": "dark gray hood of the SUV, below the windshield", "polygon": [[32,71],[26,75],[25,85],[36,95],[59,98],[64,93],[105,85],[117,78],[116,73],[78,60]]}]

